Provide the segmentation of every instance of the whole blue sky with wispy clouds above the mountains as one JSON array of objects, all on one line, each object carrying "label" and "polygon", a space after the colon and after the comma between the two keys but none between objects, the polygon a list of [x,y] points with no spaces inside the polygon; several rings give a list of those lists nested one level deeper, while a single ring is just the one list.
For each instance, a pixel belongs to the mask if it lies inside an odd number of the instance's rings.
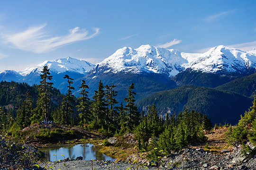
[{"label": "whole blue sky with wispy clouds above the mountains", "polygon": [[256,48],[255,0],[0,0],[0,71],[67,56],[100,62],[142,44]]}]

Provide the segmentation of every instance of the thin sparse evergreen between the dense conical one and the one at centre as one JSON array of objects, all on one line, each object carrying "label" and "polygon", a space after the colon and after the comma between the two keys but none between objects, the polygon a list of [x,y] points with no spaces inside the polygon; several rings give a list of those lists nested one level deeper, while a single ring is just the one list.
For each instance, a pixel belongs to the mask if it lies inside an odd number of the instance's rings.
[{"label": "thin sparse evergreen between the dense conical one and the one at centre", "polygon": [[[110,121],[113,121],[113,116],[116,116],[117,111],[114,110],[114,105],[117,104],[117,100],[114,98],[115,96],[117,96],[117,91],[114,90],[114,88],[116,87],[116,85],[106,85],[106,102],[107,102],[107,115],[110,118]],[[110,108],[109,108],[110,106]]]}]

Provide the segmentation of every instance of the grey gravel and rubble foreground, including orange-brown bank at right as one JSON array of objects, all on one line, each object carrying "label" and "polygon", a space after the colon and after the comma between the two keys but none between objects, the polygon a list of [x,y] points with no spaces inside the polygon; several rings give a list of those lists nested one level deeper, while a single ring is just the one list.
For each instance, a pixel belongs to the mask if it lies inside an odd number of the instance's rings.
[{"label": "grey gravel and rubble foreground, including orange-brown bank at right", "polygon": [[[213,130],[208,137],[206,148],[204,145],[190,146],[183,148],[180,152],[161,158],[163,163],[160,170],[256,170],[256,156],[245,157],[241,155],[242,146],[229,146],[225,139],[227,127]],[[113,138],[109,140],[116,142]],[[131,154],[123,161],[93,161],[93,170],[143,170],[147,167],[150,170],[157,170],[154,161],[146,161],[142,155]],[[80,158],[81,159],[81,158]],[[132,163],[134,162],[134,163]],[[65,166],[64,166],[65,164]],[[60,162],[42,163],[40,167],[56,167],[56,169],[68,170],[91,170],[91,161],[82,161],[77,158],[65,159]]]}]

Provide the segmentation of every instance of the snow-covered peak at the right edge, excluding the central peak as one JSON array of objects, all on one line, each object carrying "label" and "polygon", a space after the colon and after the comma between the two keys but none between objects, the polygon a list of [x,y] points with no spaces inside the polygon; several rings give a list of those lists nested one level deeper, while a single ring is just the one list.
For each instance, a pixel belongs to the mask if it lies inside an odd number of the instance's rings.
[{"label": "snow-covered peak at the right edge, excluding the central peak", "polygon": [[256,68],[256,51],[242,51],[219,45],[202,54],[182,53],[184,68],[207,73],[247,73]]}]

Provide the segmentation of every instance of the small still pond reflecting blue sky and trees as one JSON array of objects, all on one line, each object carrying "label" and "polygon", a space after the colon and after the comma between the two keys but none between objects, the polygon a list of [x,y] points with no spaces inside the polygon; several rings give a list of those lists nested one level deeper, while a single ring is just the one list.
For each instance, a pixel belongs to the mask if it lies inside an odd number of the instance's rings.
[{"label": "small still pond reflecting blue sky and trees", "polygon": [[99,148],[93,144],[58,144],[42,148],[41,151],[44,153],[42,161],[62,160],[64,157],[75,159],[78,156],[82,156],[83,160],[111,160],[111,157],[100,153]]}]

